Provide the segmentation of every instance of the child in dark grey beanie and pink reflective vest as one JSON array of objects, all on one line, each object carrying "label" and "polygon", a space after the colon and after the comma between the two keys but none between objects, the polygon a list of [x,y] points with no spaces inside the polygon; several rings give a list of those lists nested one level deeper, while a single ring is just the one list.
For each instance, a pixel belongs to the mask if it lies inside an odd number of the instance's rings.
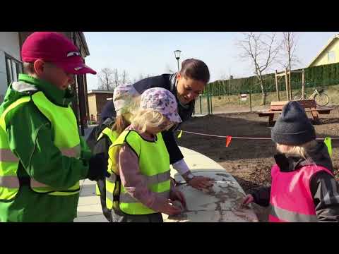
[{"label": "child in dark grey beanie and pink reflective vest", "polygon": [[244,205],[270,207],[269,222],[339,222],[339,185],[326,145],[298,102],[288,102],[271,131],[277,145],[272,182]]}]

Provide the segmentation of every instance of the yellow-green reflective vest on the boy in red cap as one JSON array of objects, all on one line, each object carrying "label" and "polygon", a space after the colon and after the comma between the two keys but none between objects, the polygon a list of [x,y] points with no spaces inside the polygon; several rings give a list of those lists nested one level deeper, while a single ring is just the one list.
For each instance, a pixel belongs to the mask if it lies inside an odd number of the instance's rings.
[{"label": "yellow-green reflective vest on the boy in red cap", "polygon": [[[80,137],[78,124],[71,107],[60,107],[45,97],[42,92],[21,97],[9,105],[0,116],[0,200],[16,198],[20,188],[17,176],[19,159],[11,151],[6,131],[6,115],[20,104],[34,102],[37,108],[47,117],[54,131],[54,145],[59,148],[62,155],[67,157],[80,157]],[[7,119],[8,120],[8,119]],[[66,126],[66,128],[65,128]],[[30,178],[30,187],[36,193],[49,195],[74,195],[79,193],[80,185],[77,181],[71,188],[57,190]]]}]

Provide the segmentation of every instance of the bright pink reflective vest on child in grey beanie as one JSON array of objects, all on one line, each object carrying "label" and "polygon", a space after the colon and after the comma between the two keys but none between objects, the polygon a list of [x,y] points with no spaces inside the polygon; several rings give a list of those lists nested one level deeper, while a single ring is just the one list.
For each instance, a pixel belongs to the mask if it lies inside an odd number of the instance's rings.
[{"label": "bright pink reflective vest on child in grey beanie", "polygon": [[269,222],[317,222],[314,202],[309,188],[311,176],[319,171],[332,172],[325,167],[307,165],[291,172],[281,172],[278,165],[270,171]]}]

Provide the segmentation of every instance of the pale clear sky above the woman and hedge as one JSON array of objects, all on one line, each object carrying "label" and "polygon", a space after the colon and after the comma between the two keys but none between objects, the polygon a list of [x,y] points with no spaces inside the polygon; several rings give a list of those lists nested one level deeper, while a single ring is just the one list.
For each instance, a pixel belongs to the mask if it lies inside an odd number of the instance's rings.
[{"label": "pale clear sky above the woman and hedge", "polygon": [[[295,54],[301,63],[296,68],[307,67],[336,33],[297,32]],[[234,78],[253,75],[250,61],[238,56],[236,42],[242,38],[241,32],[85,32],[85,38],[90,50],[85,59],[88,66],[97,72],[102,68],[117,68],[119,74],[126,70],[130,80],[140,74],[177,71],[176,49],[182,50],[180,61],[203,60],[210,69],[210,81],[229,75]],[[88,90],[97,89],[97,76],[88,74],[87,78]]]}]

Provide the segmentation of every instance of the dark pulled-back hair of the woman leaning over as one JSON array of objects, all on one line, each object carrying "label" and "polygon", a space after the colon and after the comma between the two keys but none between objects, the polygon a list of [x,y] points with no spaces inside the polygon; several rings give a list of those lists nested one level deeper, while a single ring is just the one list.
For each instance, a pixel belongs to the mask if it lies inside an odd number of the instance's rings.
[{"label": "dark pulled-back hair of the woman leaning over", "polygon": [[186,78],[203,81],[208,83],[210,80],[210,71],[206,63],[198,59],[186,59],[182,62],[180,74]]}]

